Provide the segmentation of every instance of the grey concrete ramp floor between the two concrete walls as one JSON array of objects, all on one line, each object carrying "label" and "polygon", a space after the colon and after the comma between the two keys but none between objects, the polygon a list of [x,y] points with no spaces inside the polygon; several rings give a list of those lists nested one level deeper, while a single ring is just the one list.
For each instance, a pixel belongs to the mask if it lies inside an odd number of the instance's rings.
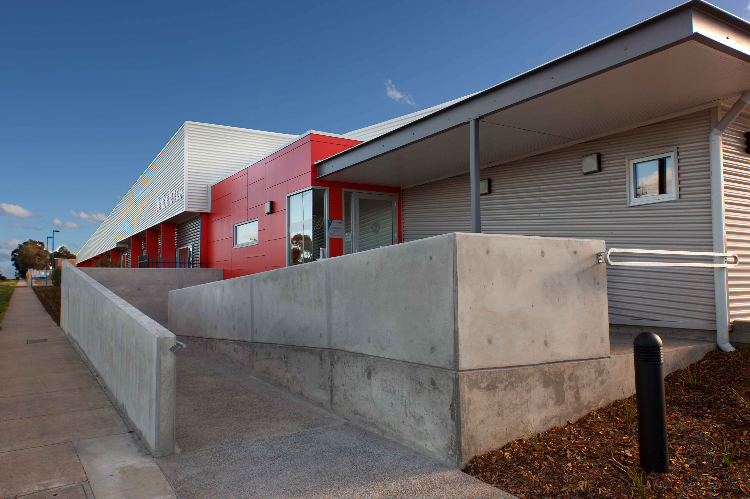
[{"label": "grey concrete ramp floor between the two concrete walls", "polygon": [[194,348],[177,353],[181,499],[513,498]]}]

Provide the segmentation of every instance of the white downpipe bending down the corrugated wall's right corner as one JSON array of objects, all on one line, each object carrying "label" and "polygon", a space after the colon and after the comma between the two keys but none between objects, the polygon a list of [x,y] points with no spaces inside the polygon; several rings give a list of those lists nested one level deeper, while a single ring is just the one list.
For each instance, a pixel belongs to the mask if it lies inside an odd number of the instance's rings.
[{"label": "white downpipe bending down the corrugated wall's right corner", "polygon": [[[734,106],[721,118],[708,136],[709,170],[711,172],[711,227],[713,251],[727,252],[727,230],[724,225],[724,147],[721,136],[739,113],[750,103],[750,90],[744,91]],[[725,258],[715,257],[715,263],[724,263]],[[723,351],[733,351],[729,342],[729,299],[727,296],[727,269],[714,268],[713,289],[716,306],[716,344]]]}]

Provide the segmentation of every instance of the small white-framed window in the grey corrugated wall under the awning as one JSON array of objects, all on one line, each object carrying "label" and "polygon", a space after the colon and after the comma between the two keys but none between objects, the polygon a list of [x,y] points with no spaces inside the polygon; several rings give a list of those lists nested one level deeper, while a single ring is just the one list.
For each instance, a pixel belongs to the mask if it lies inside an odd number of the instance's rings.
[{"label": "small white-framed window in the grey corrugated wall under the awning", "polygon": [[628,160],[628,205],[679,199],[677,151]]}]

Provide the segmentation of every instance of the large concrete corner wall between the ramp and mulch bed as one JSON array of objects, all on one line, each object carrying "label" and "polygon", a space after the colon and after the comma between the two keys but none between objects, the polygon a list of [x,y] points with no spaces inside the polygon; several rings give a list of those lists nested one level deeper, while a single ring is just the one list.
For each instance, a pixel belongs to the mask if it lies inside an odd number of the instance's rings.
[{"label": "large concrete corner wall between the ramp and mulch bed", "polygon": [[[580,402],[516,402],[507,411],[498,399],[528,401],[529,390],[545,399],[557,388],[470,378],[559,363],[590,370],[608,359],[601,251],[604,241],[441,235],[170,291],[169,329],[354,423],[463,465],[517,438],[495,426],[540,421],[541,431],[600,402],[591,383],[601,380],[582,376],[565,387],[583,392]],[[477,424],[469,413],[480,407]]]}]

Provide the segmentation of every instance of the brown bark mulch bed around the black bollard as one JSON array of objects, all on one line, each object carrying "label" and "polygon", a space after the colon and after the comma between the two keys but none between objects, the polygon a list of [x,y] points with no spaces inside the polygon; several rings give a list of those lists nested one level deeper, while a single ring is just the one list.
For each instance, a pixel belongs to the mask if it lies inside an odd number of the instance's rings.
[{"label": "brown bark mulch bed around the black bollard", "polygon": [[576,423],[529,431],[463,471],[522,499],[750,498],[750,352],[711,351],[689,368],[665,380],[668,474],[646,476],[638,466],[634,396]]}]

